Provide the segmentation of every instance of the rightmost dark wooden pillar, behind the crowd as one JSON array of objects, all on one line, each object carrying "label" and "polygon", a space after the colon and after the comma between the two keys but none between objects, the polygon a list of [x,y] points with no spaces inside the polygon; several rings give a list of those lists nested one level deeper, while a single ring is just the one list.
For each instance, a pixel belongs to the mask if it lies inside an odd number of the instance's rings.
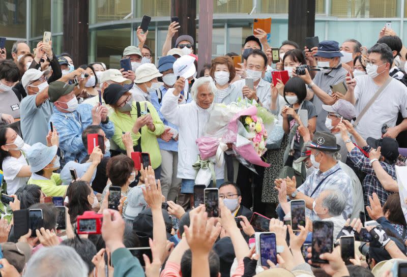
[{"label": "rightmost dark wooden pillar, behind the crowd", "polygon": [[[315,0],[288,0],[288,39],[304,48],[315,32]],[[319,38],[319,41],[322,41]]]}]

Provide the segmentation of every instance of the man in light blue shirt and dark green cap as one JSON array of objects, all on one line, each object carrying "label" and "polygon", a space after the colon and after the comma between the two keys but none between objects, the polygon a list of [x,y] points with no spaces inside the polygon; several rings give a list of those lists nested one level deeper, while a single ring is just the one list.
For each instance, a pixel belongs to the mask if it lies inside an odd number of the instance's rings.
[{"label": "man in light blue shirt and dark green cap", "polygon": [[[76,85],[55,81],[48,87],[49,101],[54,104],[54,112],[49,121],[60,135],[60,149],[65,162],[82,161],[88,155],[82,143],[82,132],[86,127],[100,125],[108,139],[114,133],[113,123],[109,121],[105,106],[78,104],[73,93]],[[105,153],[105,156],[110,156],[110,153]]]}]

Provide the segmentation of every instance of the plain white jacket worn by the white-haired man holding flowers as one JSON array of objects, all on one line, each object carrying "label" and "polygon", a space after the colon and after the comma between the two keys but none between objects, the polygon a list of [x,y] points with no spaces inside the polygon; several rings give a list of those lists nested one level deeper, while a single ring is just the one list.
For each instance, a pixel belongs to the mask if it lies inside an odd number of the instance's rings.
[{"label": "plain white jacket worn by the white-haired man holding flowers", "polygon": [[[201,137],[206,128],[212,110],[202,109],[195,101],[178,105],[178,96],[174,89],[168,89],[162,99],[161,113],[172,124],[178,126],[178,178],[195,179],[197,171],[192,167],[196,162],[199,150],[196,139]],[[223,179],[224,167],[214,166],[216,179]]]}]

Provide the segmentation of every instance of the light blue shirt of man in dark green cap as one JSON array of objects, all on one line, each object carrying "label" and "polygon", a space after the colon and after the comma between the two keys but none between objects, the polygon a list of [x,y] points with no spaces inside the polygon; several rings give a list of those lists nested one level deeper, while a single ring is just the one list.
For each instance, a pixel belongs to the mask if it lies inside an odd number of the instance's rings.
[{"label": "light blue shirt of man in dark green cap", "polygon": [[[65,113],[54,107],[54,113],[49,120],[53,122],[53,126],[60,135],[60,149],[64,153],[66,163],[74,160],[82,161],[88,155],[82,142],[82,132],[92,124],[92,108],[88,104],[79,104],[76,111]],[[100,127],[105,132],[106,138],[113,136],[114,126],[111,121],[106,124],[101,123]],[[105,157],[106,155],[108,153]]]}]

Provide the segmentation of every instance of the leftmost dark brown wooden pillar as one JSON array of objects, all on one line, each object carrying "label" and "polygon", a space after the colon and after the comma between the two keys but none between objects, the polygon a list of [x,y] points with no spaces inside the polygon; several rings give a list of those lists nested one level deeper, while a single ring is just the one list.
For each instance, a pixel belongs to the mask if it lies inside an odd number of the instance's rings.
[{"label": "leftmost dark brown wooden pillar", "polygon": [[89,0],[64,0],[63,51],[75,66],[88,64]]}]

